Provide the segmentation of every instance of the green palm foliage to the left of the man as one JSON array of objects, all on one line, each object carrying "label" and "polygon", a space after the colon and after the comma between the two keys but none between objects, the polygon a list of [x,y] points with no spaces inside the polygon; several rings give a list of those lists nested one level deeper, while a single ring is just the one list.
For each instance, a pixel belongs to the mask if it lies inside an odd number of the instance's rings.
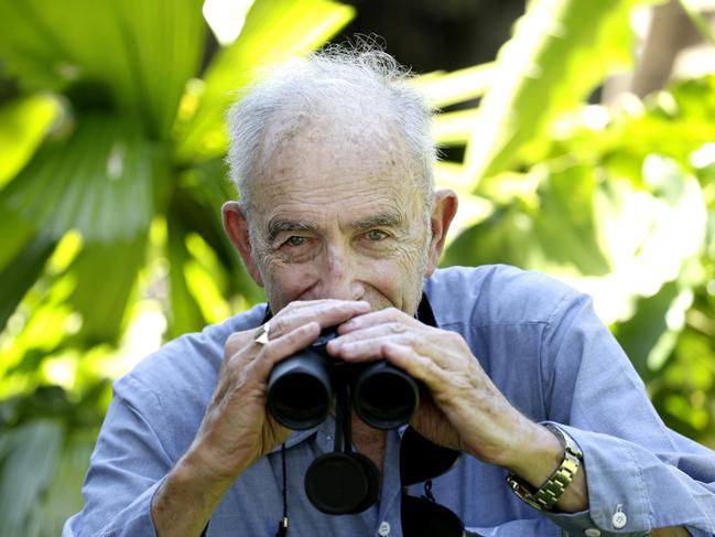
[{"label": "green palm foliage to the left of the man", "polygon": [[220,222],[224,115],[353,9],[257,0],[214,52],[202,6],[0,0],[0,535],[80,507],[108,379],[262,297]]}]

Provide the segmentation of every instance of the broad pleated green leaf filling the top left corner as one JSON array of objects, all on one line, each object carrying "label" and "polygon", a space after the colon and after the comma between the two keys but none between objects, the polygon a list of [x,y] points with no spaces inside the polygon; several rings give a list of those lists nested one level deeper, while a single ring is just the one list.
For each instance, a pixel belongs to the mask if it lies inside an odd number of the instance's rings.
[{"label": "broad pleated green leaf filling the top left corner", "polygon": [[[202,0],[0,1],[0,57],[31,88],[91,92],[166,137],[206,25]],[[101,96],[101,94],[105,94]]]}]

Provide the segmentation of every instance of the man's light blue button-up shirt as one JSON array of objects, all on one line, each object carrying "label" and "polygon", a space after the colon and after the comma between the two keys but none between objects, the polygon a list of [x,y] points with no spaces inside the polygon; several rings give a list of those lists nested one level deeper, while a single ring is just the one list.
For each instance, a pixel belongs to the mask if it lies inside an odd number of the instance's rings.
[{"label": "man's light blue button-up shirt", "polygon": [[[589,509],[544,514],[508,488],[503,469],[464,455],[434,480],[437,502],[486,536],[647,535],[683,525],[715,534],[715,452],[668,429],[588,297],[511,267],[449,268],[425,280],[437,325],[455,331],[511,404],[560,425],[583,451]],[[85,508],[63,537],[152,536],[151,501],[191,444],[216,386],[224,343],[258,326],[266,304],[164,345],[115,384],[83,488]],[[303,490],[310,463],[332,451],[334,423],[286,443],[289,536],[391,536],[400,526],[399,431],[388,433],[382,494],[358,515],[329,516]],[[208,536],[275,535],[280,448],[236,481]],[[412,491],[419,495],[421,485]],[[626,519],[617,529],[614,515]],[[563,533],[562,533],[563,530]],[[598,534],[599,531],[599,534]],[[409,537],[409,536],[408,536]]]}]

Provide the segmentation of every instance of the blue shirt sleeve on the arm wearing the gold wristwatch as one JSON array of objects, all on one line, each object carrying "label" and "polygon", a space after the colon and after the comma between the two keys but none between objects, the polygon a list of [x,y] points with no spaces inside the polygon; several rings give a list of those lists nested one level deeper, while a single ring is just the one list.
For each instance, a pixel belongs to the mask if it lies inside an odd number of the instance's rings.
[{"label": "blue shirt sleeve on the arm wearing the gold wristwatch", "polygon": [[588,512],[551,520],[568,535],[715,534],[715,452],[665,427],[587,297],[556,309],[542,363],[549,419],[583,452],[589,502]]}]

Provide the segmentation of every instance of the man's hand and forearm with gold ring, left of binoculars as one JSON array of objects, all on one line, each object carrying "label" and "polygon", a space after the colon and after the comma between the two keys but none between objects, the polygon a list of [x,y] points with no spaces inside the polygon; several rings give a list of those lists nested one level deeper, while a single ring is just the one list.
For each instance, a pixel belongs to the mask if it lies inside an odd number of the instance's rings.
[{"label": "man's hand and forearm with gold ring, left of binoculars", "polygon": [[290,431],[266,410],[275,364],[310,345],[321,330],[370,311],[361,301],[292,302],[271,319],[270,340],[256,329],[232,334],[212,401],[194,442],[169,473],[152,504],[160,536],[198,535],[234,481],[285,441]]}]

